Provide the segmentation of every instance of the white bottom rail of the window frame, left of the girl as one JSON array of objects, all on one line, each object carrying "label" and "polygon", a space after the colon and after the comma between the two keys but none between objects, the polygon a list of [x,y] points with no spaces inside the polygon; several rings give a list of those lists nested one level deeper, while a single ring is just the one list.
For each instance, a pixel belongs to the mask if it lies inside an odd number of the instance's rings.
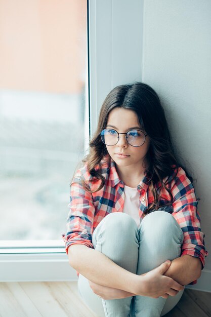
[{"label": "white bottom rail of the window frame, left of the girl", "polygon": [[0,282],[77,281],[63,247],[0,249]]}]

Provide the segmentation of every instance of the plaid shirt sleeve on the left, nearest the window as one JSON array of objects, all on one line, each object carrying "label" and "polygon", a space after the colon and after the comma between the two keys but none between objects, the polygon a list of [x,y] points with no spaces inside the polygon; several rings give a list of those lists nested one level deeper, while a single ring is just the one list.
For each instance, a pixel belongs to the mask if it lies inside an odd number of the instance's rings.
[{"label": "plaid shirt sleeve on the left, nearest the window", "polygon": [[62,234],[65,242],[65,251],[68,254],[69,246],[73,244],[86,245],[93,248],[92,233],[95,207],[92,193],[81,183],[82,174],[77,171],[70,184],[70,203],[67,217],[67,232]]}]

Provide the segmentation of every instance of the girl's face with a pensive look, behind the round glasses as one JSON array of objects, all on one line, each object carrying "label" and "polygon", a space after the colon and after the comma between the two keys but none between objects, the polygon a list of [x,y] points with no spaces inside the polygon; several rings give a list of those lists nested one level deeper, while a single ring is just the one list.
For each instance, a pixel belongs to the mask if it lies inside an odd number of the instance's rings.
[{"label": "girl's face with a pensive look, behind the round glasses", "polygon": [[[106,128],[114,129],[118,133],[126,133],[133,129],[140,129],[143,131],[139,125],[136,112],[119,107],[116,107],[109,112]],[[146,134],[145,131],[143,132]],[[125,134],[120,134],[118,142],[112,146],[106,145],[106,148],[117,166],[131,166],[136,169],[137,167],[140,167],[140,164],[143,164],[149,145],[150,139],[148,135],[142,146],[134,147],[126,141]]]}]

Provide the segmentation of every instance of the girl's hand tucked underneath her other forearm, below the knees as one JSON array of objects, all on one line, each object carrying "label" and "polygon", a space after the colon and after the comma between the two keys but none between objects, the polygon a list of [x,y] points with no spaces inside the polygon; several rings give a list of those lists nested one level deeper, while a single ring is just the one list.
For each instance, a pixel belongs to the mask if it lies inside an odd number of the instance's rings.
[{"label": "girl's hand tucked underneath her other forearm, below the knees", "polygon": [[89,281],[90,287],[96,295],[103,299],[118,299],[118,298],[126,298],[130,296],[135,296],[136,294],[129,293],[123,290],[115,289],[112,287],[102,286],[96,284],[92,281]]}]

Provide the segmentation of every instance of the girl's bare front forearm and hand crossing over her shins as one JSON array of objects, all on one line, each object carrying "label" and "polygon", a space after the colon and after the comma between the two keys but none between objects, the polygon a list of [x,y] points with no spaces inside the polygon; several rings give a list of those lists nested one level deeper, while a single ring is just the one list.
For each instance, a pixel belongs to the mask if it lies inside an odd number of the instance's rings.
[{"label": "girl's bare front forearm and hand crossing over her shins", "polygon": [[68,256],[70,266],[89,281],[102,286],[154,298],[166,293],[174,296],[184,288],[162,275],[170,265],[166,262],[145,275],[137,275],[117,265],[103,253],[84,245],[71,245]]}]

